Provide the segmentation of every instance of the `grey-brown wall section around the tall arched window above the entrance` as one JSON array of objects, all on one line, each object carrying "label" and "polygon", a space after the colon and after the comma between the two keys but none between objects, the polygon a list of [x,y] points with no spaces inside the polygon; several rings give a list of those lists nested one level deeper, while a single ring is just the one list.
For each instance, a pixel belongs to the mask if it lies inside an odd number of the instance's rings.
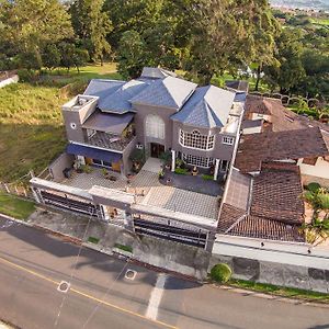
[{"label": "grey-brown wall section around the tall arched window above the entrance", "polygon": [[[135,115],[137,143],[143,144],[146,148],[148,148],[149,143],[162,144],[164,145],[166,150],[172,148],[172,121],[170,116],[177,111],[174,109],[157,107],[143,104],[134,104],[134,109],[137,111]],[[145,121],[148,114],[159,115],[163,120],[166,125],[164,139],[156,139],[145,136]]]}]

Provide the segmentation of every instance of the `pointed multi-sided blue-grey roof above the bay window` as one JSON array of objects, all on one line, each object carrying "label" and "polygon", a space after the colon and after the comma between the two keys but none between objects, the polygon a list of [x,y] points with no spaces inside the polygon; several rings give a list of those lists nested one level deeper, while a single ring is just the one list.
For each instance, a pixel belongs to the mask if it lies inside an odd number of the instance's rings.
[{"label": "pointed multi-sided blue-grey roof above the bay window", "polygon": [[200,87],[172,120],[200,127],[223,127],[228,118],[235,93],[214,86]]}]

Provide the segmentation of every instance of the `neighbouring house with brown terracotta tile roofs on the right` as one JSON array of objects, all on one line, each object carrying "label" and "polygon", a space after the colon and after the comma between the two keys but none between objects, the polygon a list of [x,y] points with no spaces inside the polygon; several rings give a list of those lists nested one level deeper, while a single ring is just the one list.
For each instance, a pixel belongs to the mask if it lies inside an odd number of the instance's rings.
[{"label": "neighbouring house with brown terracotta tile roofs on the right", "polygon": [[329,127],[248,95],[218,234],[303,242],[303,184],[329,186]]}]

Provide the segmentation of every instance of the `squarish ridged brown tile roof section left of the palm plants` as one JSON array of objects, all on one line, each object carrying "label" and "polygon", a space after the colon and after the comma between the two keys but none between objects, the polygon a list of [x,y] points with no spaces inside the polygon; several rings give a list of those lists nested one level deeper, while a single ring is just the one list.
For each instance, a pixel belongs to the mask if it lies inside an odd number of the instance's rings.
[{"label": "squarish ridged brown tile roof section left of the palm plants", "polygon": [[287,224],[302,224],[304,203],[299,168],[288,163],[264,163],[254,178],[250,214]]}]

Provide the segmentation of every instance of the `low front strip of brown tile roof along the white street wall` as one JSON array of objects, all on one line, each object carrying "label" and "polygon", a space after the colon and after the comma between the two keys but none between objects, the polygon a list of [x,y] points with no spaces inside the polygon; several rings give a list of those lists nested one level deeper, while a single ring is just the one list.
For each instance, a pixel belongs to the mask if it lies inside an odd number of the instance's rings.
[{"label": "low front strip of brown tile roof along the white street wall", "polygon": [[[241,211],[231,205],[224,204],[218,223],[218,232],[224,234],[240,217]],[[227,234],[247,238],[304,242],[305,238],[298,229],[298,225],[288,225],[257,216],[246,216]]]}]

